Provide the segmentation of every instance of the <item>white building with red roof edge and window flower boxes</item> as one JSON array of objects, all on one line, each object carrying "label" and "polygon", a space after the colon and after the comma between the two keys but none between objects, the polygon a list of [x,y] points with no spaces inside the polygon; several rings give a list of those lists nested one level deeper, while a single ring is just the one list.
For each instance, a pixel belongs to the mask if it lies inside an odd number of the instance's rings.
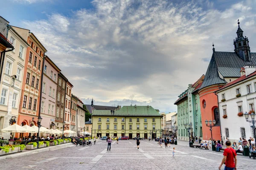
[{"label": "white building with red roof edge and window flower boxes", "polygon": [[[256,66],[241,68],[241,77],[216,91],[219,102],[221,134],[231,142],[239,138],[253,137],[252,124],[246,122],[238,113],[255,111],[256,104]],[[250,117],[250,116],[249,116]]]}]

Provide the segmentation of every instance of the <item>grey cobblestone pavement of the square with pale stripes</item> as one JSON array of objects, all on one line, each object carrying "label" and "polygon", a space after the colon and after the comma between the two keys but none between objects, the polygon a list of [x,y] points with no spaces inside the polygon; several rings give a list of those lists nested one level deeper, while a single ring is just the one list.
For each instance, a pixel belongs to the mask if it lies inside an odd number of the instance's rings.
[{"label": "grey cobblestone pavement of the square with pale stripes", "polygon": [[[172,148],[176,148],[172,157]],[[217,170],[223,153],[171,145],[160,148],[157,142],[116,141],[107,151],[106,141],[95,145],[66,147],[13,159],[0,160],[1,170]],[[238,156],[238,170],[255,169],[256,160]],[[224,166],[222,167],[224,169]]]}]

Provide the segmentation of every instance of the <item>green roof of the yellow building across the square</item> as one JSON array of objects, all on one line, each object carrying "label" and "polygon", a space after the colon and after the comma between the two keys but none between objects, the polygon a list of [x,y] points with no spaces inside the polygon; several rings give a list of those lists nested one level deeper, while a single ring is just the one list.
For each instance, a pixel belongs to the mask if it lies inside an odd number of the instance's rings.
[{"label": "green roof of the yellow building across the square", "polygon": [[119,110],[93,110],[92,116],[161,116],[151,106],[123,106]]}]

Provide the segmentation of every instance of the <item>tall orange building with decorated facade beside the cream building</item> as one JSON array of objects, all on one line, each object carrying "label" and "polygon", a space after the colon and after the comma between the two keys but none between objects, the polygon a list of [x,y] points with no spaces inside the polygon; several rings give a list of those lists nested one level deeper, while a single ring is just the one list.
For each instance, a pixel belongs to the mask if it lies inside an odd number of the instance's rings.
[{"label": "tall orange building with decorated facade beside the cream building", "polygon": [[[47,50],[28,29],[14,27],[29,47],[26,51],[23,85],[20,95],[18,125],[37,125],[44,53]],[[34,118],[34,120],[32,120]],[[21,133],[22,135],[22,133]]]}]

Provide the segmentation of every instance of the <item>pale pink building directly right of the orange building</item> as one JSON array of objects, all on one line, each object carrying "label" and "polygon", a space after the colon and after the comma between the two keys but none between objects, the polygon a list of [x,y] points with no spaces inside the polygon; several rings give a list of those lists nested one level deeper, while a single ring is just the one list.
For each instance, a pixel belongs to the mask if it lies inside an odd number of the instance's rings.
[{"label": "pale pink building directly right of the orange building", "polygon": [[44,77],[42,85],[41,125],[47,129],[55,129],[55,106],[58,73],[61,70],[46,56],[44,61]]}]

